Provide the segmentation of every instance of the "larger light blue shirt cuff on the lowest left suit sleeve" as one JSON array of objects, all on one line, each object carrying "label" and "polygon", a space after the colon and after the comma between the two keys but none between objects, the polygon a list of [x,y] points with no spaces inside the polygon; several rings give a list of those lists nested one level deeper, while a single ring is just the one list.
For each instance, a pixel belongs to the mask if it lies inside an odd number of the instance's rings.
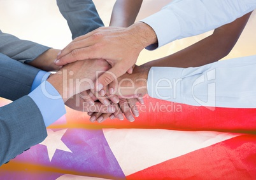
[{"label": "larger light blue shirt cuff on the lowest left suit sleeve", "polygon": [[66,113],[64,101],[59,92],[48,81],[44,81],[29,96],[38,106],[45,126],[52,124]]}]

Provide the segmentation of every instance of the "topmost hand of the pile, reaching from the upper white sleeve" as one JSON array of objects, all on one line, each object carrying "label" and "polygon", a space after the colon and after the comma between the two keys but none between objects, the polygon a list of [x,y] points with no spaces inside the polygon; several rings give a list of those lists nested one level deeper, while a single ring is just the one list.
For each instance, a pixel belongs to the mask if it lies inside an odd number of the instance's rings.
[{"label": "topmost hand of the pile, reaching from the upper white sleeve", "polygon": [[[106,86],[125,74],[136,63],[140,51],[157,42],[153,29],[143,22],[128,28],[101,27],[72,41],[57,56],[56,65],[77,60],[103,58],[110,63],[108,72],[97,79],[96,91],[106,93]],[[132,69],[129,70],[129,73]]]}]

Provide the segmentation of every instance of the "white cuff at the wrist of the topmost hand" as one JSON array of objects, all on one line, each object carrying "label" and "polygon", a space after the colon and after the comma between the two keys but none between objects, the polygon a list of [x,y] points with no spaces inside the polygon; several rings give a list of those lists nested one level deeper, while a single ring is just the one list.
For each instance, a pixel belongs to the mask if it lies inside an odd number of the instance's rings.
[{"label": "white cuff at the wrist of the topmost hand", "polygon": [[[167,21],[166,17],[168,17]],[[174,13],[167,8],[148,16],[147,18],[141,20],[141,22],[144,22],[152,27],[157,35],[158,44],[152,44],[146,47],[148,50],[153,50],[164,46],[165,44],[178,39],[180,36],[180,22],[178,21],[176,15],[174,15]]]}]

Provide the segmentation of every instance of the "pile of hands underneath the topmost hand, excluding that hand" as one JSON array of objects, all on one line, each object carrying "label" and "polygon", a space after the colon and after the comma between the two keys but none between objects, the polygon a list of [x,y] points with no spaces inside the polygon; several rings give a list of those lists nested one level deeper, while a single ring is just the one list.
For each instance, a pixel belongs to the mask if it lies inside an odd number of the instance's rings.
[{"label": "pile of hands underneath the topmost hand, excluding that hand", "polygon": [[147,74],[147,68],[136,66],[132,74],[125,73],[118,78],[111,74],[115,80],[103,94],[94,87],[98,77],[109,73],[107,70],[110,68],[105,60],[75,61],[60,68],[48,78],[48,82],[56,87],[67,106],[88,112],[91,122],[103,122],[109,117],[124,120],[124,116],[132,122],[139,116],[136,103],[143,104],[146,94],[146,78],[141,74]]}]

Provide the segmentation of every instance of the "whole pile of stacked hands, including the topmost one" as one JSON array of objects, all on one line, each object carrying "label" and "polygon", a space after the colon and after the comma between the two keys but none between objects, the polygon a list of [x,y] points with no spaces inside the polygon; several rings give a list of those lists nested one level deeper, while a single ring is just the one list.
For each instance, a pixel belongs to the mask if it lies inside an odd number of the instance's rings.
[{"label": "whole pile of stacked hands, including the topmost one", "polygon": [[131,29],[101,27],[77,37],[60,51],[54,63],[63,67],[48,81],[55,86],[52,78],[59,75],[63,79],[66,75],[62,90],[57,88],[66,105],[88,112],[92,122],[103,122],[108,117],[123,120],[124,115],[132,122],[132,114],[138,117],[136,103],[143,104],[149,68],[134,64],[140,51],[155,42],[146,42],[145,30],[140,31],[143,25],[151,29],[144,23]]}]

